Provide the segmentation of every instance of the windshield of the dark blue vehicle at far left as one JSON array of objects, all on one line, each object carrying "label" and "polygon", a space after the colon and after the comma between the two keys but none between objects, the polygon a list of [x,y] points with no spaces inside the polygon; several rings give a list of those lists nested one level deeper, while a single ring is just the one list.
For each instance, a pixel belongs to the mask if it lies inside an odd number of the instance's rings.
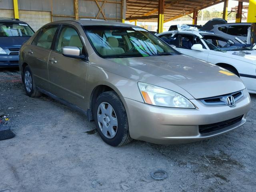
[{"label": "windshield of the dark blue vehicle at far left", "polygon": [[33,30],[28,24],[0,22],[0,37],[32,36]]}]

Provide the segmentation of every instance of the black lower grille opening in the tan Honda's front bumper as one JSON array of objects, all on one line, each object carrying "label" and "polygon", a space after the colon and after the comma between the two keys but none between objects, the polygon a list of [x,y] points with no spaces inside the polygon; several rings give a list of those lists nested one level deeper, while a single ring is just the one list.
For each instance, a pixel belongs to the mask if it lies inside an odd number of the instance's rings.
[{"label": "black lower grille opening in the tan Honda's front bumper", "polygon": [[243,118],[243,115],[238,116],[236,118],[232,118],[230,120],[218,122],[218,123],[213,123],[213,124],[208,124],[208,125],[199,125],[199,132],[200,134],[206,134],[214,131],[218,131],[220,129],[224,129],[228,126],[234,125],[238,122],[240,122]]}]

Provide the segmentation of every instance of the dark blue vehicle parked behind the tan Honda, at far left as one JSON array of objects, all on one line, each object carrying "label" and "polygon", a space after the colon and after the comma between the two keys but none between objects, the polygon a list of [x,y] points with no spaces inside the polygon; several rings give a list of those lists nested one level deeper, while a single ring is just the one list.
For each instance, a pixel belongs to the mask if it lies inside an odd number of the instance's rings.
[{"label": "dark blue vehicle parked behind the tan Honda, at far left", "polygon": [[23,21],[0,18],[0,68],[19,66],[19,49],[33,34]]}]

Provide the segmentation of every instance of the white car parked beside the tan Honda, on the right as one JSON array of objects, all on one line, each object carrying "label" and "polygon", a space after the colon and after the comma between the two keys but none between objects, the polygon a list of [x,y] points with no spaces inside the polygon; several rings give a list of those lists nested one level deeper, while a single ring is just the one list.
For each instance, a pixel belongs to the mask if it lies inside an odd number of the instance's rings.
[{"label": "white car parked beside the tan Honda, on the right", "polygon": [[256,93],[255,46],[248,47],[202,31],[168,31],[157,36],[182,54],[216,64],[240,76],[248,91]]}]

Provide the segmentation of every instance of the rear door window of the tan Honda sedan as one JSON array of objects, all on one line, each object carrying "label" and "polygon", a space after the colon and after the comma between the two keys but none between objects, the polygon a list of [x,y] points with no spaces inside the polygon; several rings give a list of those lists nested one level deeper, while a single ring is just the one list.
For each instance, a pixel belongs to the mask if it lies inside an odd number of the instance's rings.
[{"label": "rear door window of the tan Honda sedan", "polygon": [[40,33],[36,36],[32,45],[50,49],[52,46],[52,40],[54,38],[54,34],[57,30],[58,26],[49,26],[42,28]]}]

